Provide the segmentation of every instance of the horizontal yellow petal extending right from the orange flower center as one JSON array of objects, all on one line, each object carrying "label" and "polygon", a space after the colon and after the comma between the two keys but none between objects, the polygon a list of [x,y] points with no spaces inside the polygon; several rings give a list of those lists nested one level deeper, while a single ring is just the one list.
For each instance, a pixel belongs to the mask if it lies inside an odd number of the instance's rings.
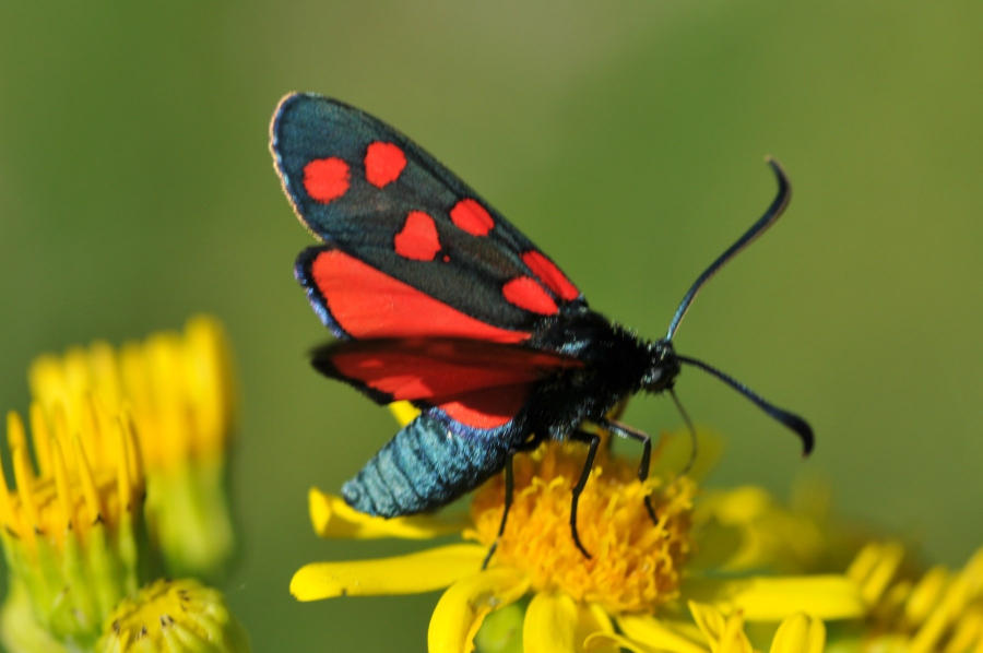
[{"label": "horizontal yellow petal extending right from the orange flower center", "polygon": [[866,613],[860,585],[845,575],[759,577],[739,581],[695,581],[684,594],[748,621],[781,621],[797,613],[818,619],[853,619]]}]

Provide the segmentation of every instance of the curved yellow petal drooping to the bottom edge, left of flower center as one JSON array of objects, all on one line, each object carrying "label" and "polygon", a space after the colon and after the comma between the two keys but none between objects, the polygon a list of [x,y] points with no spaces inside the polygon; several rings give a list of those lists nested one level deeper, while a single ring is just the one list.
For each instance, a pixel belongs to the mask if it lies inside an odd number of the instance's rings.
[{"label": "curved yellow petal drooping to the bottom edge, left of flower center", "polygon": [[[430,617],[429,653],[470,653],[488,613],[518,601],[528,589],[529,578],[511,568],[488,569],[459,580],[443,593]],[[530,650],[528,644],[525,650]]]}]

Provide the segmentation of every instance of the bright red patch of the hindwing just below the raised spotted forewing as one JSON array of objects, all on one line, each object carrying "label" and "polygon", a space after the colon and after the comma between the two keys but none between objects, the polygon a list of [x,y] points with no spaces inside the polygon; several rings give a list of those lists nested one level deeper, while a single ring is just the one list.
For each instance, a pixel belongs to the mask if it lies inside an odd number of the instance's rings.
[{"label": "bright red patch of the hindwing just below the raised spotted forewing", "polygon": [[353,337],[443,336],[519,343],[531,335],[475,320],[336,249],[318,254],[311,276],[334,320]]}]

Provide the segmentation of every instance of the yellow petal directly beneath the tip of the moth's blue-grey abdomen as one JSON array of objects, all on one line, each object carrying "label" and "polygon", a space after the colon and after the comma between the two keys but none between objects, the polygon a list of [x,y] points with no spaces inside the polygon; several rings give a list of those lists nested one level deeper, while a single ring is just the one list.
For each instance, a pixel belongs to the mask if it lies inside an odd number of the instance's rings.
[{"label": "yellow petal directly beneath the tip of the moth's blue-grey abdomen", "polygon": [[341,497],[327,495],[316,487],[308,492],[310,521],[321,537],[376,539],[401,537],[429,539],[460,533],[471,521],[464,515],[396,517],[384,519],[358,512]]}]

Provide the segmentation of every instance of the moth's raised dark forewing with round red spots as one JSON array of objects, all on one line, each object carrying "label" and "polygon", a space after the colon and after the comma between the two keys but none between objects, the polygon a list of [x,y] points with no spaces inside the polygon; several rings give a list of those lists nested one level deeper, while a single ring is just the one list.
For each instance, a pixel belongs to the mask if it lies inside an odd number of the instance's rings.
[{"label": "moth's raised dark forewing with round red spots", "polygon": [[[281,103],[271,131],[276,168],[298,216],[341,254],[450,310],[522,334],[509,342],[528,339],[564,307],[584,304],[532,241],[380,120],[336,100],[295,94]],[[309,252],[301,254],[298,277],[330,305],[333,288],[319,285],[316,263]],[[388,295],[377,299],[386,304]],[[424,331],[415,334],[429,334],[422,322],[415,326]],[[438,323],[431,326],[434,335],[446,335]],[[345,331],[355,337],[407,335]]]}]

